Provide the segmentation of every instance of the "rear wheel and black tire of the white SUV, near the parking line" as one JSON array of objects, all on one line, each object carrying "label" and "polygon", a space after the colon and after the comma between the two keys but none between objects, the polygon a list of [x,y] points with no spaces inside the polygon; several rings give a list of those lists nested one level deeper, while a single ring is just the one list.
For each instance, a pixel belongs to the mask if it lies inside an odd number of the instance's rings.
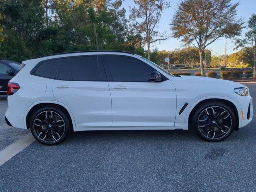
[{"label": "rear wheel and black tire of the white SUV, near the parking line", "polygon": [[46,145],[62,142],[70,132],[68,115],[56,107],[44,107],[34,112],[30,120],[30,130],[34,138]]}]

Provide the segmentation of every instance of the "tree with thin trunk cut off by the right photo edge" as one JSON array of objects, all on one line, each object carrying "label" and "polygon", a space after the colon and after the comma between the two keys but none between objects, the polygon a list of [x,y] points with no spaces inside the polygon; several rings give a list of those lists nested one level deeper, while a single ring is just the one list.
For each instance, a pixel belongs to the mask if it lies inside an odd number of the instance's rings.
[{"label": "tree with thin trunk cut off by the right photo edge", "polygon": [[256,63],[256,14],[252,14],[247,22],[248,31],[245,34],[244,39],[236,39],[236,48],[244,47],[248,44],[251,45],[253,49],[253,77],[255,77],[255,63]]}]

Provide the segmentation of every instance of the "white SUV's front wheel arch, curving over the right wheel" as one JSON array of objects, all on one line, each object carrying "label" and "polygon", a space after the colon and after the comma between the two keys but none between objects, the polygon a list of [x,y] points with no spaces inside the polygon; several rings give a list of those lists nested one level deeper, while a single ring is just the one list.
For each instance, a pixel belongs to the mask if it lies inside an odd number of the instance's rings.
[{"label": "white SUV's front wheel arch, curving over the right wheel", "polygon": [[239,109],[239,107],[237,106],[237,104],[236,104],[233,100],[231,100],[231,99],[229,99],[229,98],[204,98],[204,99],[199,100],[198,102],[196,102],[196,103],[190,108],[190,110],[188,111],[188,115],[187,115],[188,128],[189,128],[189,126],[190,126],[191,119],[192,119],[193,114],[194,114],[194,112],[196,111],[196,109],[197,109],[200,105],[202,105],[202,104],[204,104],[204,103],[206,103],[206,102],[223,102],[223,103],[227,104],[228,106],[230,106],[230,107],[232,108],[232,110],[233,110],[235,116],[236,116],[236,122],[237,122],[237,123],[236,123],[236,129],[235,129],[235,130],[238,130],[238,127],[239,127],[239,125],[241,124],[241,122],[240,122],[240,120],[241,120],[241,118],[240,118],[240,109]]}]

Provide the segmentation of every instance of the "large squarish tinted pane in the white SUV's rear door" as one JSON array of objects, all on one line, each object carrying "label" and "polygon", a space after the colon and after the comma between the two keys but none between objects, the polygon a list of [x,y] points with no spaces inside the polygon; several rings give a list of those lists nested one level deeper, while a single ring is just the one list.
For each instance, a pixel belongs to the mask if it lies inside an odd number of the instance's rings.
[{"label": "large squarish tinted pane in the white SUV's rear door", "polygon": [[72,80],[100,81],[97,56],[70,58]]}]

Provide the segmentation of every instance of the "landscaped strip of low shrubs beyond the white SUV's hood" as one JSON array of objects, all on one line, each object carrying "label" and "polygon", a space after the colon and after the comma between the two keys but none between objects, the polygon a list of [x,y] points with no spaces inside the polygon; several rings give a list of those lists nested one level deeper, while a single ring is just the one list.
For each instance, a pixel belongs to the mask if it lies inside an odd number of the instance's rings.
[{"label": "landscaped strip of low shrubs beyond the white SUV's hood", "polygon": [[[226,68],[225,68],[226,69]],[[190,72],[186,71],[171,71],[173,75],[192,75]],[[231,80],[236,82],[256,82],[256,78],[252,77],[253,71],[250,69],[230,69],[220,71],[220,76],[216,71],[210,70],[206,72],[206,77],[211,78],[221,78],[225,80]],[[195,72],[194,76],[201,76],[201,72]],[[245,77],[243,77],[245,76]]]}]

